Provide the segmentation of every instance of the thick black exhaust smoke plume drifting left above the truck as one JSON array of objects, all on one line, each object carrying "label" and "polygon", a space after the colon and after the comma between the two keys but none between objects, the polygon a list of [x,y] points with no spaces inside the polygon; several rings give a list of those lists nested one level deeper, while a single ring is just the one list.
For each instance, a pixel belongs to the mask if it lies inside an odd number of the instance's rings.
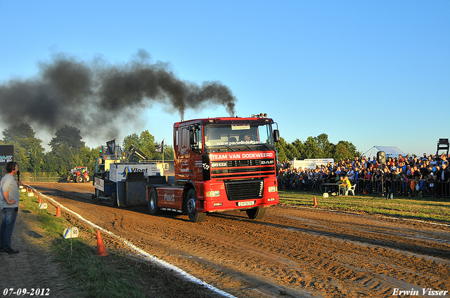
[{"label": "thick black exhaust smoke plume drifting left above the truck", "polygon": [[88,134],[99,127],[114,134],[120,130],[118,118],[139,114],[154,103],[178,112],[181,119],[186,109],[208,105],[224,106],[235,115],[236,97],[227,86],[183,81],[167,63],[151,62],[145,50],[117,65],[58,54],[39,68],[35,78],[0,84],[0,121],[6,126],[24,122],[54,133],[67,124]]}]

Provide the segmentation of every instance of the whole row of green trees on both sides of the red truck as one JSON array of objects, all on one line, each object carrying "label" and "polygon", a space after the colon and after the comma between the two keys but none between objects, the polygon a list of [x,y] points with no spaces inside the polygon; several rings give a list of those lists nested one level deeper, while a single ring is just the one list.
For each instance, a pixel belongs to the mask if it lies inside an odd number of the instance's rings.
[{"label": "whole row of green trees on both sides of the red truck", "polygon": [[[2,131],[4,136],[0,140],[1,145],[14,146],[14,161],[20,165],[20,172],[30,175],[43,175],[47,177],[68,176],[70,170],[77,166],[86,166],[89,172],[94,172],[96,158],[100,156],[102,146],[89,148],[82,141],[80,130],[73,126],[61,126],[56,130],[55,136],[49,142],[50,151],[42,147],[43,141],[36,137],[36,133],[27,123],[9,126]],[[161,160],[162,153],[155,152],[159,145],[155,137],[148,130],[140,135],[133,133],[124,137],[122,149],[127,151],[131,145],[143,151],[148,159]],[[276,144],[279,161],[293,161],[306,158],[334,158],[335,160],[354,158],[361,153],[356,151],[352,142],[340,141],[333,144],[328,140],[325,133],[317,137],[308,137],[304,142],[295,140],[286,142],[281,137]],[[173,160],[174,151],[172,146],[164,146],[164,159]]]}]

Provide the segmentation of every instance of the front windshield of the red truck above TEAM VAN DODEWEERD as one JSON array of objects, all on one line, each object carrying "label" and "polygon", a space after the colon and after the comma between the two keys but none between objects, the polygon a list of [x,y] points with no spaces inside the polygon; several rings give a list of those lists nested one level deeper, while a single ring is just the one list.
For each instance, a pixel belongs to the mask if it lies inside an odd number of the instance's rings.
[{"label": "front windshield of the red truck above TEAM VAN DODEWEERD", "polygon": [[261,144],[269,147],[274,146],[274,137],[270,124],[205,125],[203,134],[205,148],[249,147]]}]

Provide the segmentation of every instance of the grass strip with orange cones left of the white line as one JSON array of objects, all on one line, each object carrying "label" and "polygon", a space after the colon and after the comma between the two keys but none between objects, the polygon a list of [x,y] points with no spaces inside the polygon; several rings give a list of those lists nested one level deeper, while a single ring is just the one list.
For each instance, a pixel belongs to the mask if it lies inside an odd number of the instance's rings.
[{"label": "grass strip with orange cones left of the white line", "polygon": [[[71,240],[63,238],[65,227],[70,226],[64,217],[49,214],[46,209],[39,209],[38,198],[20,194],[23,210],[37,215],[39,227],[43,229],[53,241],[49,247],[60,263],[72,277],[73,286],[84,297],[146,297],[145,292],[134,285],[137,280],[134,264],[115,255],[113,261],[98,257],[96,247],[89,244],[83,237]],[[93,235],[94,229],[90,230]],[[111,266],[113,264],[113,266]]]}]

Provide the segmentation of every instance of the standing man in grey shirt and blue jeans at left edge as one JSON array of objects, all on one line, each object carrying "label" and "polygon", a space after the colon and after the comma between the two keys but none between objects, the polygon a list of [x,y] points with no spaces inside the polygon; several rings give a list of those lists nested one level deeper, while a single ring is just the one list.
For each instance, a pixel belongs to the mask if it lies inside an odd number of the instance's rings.
[{"label": "standing man in grey shirt and blue jeans at left edge", "polygon": [[15,220],[19,212],[19,187],[14,175],[19,171],[19,165],[15,161],[6,164],[6,174],[0,183],[0,253],[13,255],[18,250],[11,248],[11,238],[15,227]]}]

